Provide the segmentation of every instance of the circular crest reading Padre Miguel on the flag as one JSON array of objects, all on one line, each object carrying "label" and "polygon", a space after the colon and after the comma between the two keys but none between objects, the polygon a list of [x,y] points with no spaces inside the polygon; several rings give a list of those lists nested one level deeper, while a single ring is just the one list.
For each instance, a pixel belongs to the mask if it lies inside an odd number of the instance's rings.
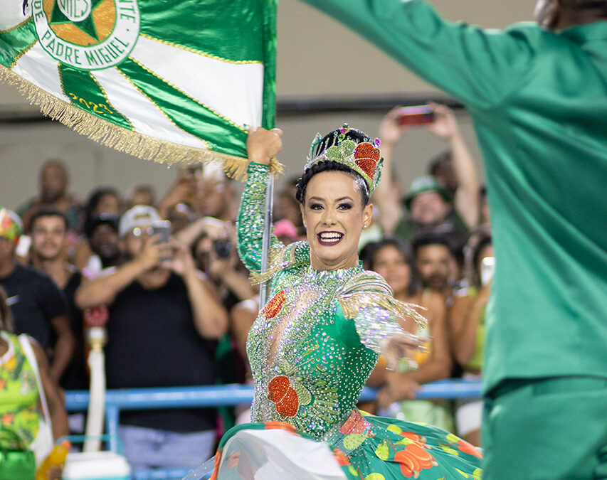
[{"label": "circular crest reading Padre Miguel on the flag", "polygon": [[139,35],[137,0],[34,0],[31,8],[43,50],[80,70],[117,65]]}]

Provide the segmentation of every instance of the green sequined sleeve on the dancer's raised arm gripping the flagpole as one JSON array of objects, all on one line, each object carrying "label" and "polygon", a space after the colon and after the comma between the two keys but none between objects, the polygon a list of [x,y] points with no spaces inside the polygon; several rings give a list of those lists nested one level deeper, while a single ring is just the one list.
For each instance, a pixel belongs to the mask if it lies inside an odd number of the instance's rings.
[{"label": "green sequined sleeve on the dancer's raised arm gripping the flagpole", "polygon": [[[260,274],[265,190],[268,186],[268,166],[251,162],[247,182],[238,209],[238,255],[252,274]],[[270,263],[283,256],[284,246],[272,235]]]}]

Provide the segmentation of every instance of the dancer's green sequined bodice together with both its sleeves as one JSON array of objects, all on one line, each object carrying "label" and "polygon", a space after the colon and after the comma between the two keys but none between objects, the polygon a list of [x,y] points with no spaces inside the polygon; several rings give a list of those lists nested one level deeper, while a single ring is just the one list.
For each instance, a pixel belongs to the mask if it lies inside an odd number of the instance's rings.
[{"label": "dancer's green sequined bodice together with both its sleeves", "polygon": [[[238,253],[254,275],[261,273],[267,179],[267,167],[250,164],[238,213]],[[247,341],[252,420],[289,422],[327,438],[356,405],[382,339],[401,332],[398,302],[384,279],[362,267],[313,270],[307,242],[285,247],[273,238],[260,277],[271,283]]]}]

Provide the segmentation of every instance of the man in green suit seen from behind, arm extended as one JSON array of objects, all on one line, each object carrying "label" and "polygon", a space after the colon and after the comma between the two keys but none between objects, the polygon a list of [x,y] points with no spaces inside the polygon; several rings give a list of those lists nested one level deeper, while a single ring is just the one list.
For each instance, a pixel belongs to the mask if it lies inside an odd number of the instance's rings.
[{"label": "man in green suit seen from behind, arm extended", "polygon": [[484,478],[607,478],[607,1],[539,0],[504,31],[423,0],[305,1],[473,118],[497,267]]}]

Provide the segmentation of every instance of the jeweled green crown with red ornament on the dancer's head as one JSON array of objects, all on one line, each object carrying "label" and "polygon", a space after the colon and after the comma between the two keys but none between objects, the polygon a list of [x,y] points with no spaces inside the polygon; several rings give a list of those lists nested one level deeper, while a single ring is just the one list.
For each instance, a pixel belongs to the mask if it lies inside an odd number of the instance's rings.
[{"label": "jeweled green crown with red ornament on the dancer's head", "polygon": [[[347,133],[350,131],[349,125],[344,123],[342,128],[333,132],[333,138],[329,138],[327,142],[322,142],[323,137],[316,134],[310,146],[310,154],[307,157],[304,174],[321,161],[336,161],[357,172],[366,182],[366,186],[369,188],[369,196],[371,196],[377,183],[379,183],[381,166],[384,162],[379,151],[379,139],[375,139],[373,143],[370,141],[361,142],[348,136]],[[330,144],[330,146],[323,149],[325,143]]]}]

